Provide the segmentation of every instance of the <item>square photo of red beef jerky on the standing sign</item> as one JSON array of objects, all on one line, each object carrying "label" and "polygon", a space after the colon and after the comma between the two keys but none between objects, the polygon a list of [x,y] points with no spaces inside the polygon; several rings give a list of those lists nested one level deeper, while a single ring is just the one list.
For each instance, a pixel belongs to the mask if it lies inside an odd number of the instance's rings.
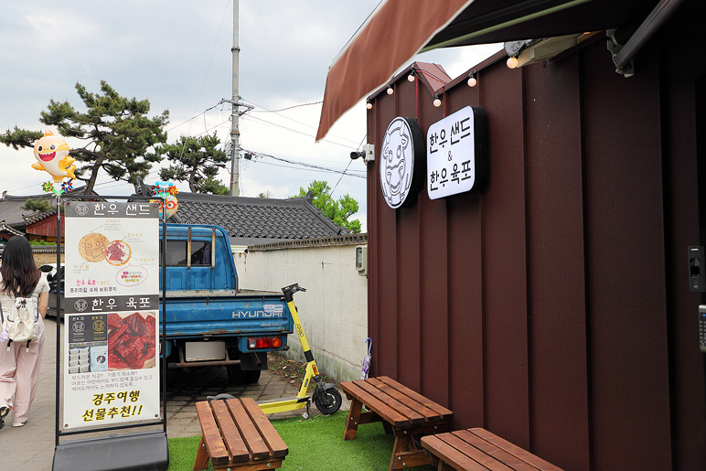
[{"label": "square photo of red beef jerky on the standing sign", "polygon": [[155,314],[108,315],[108,370],[152,368],[155,358]]}]

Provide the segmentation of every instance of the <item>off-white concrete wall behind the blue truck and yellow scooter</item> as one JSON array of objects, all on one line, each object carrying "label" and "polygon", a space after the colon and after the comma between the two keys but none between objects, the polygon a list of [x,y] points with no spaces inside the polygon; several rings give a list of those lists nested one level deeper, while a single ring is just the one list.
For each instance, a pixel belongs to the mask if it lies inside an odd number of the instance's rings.
[{"label": "off-white concrete wall behind the blue truck and yellow scooter", "polygon": [[[294,283],[306,288],[294,294],[306,338],[318,368],[339,381],[358,380],[368,353],[368,278],[356,270],[358,244],[365,242],[234,254],[241,289],[281,291]],[[287,356],[304,361],[299,338],[290,335],[287,343]]]}]

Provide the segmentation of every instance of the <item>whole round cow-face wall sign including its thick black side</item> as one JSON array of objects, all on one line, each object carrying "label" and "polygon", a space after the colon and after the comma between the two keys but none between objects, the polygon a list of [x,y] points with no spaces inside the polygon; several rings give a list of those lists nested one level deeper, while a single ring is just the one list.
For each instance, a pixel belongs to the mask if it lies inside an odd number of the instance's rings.
[{"label": "whole round cow-face wall sign including its thick black side", "polygon": [[417,120],[397,117],[380,147],[380,189],[391,209],[411,206],[424,179],[424,134]]}]

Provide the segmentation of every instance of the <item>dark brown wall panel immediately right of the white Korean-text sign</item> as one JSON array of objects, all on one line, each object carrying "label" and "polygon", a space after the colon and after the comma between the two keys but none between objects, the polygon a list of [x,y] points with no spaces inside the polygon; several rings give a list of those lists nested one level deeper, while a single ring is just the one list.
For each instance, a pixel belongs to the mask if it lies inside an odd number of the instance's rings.
[{"label": "dark brown wall panel immediately right of the white Korean-text sign", "polygon": [[[483,198],[485,425],[530,446],[522,75],[491,70],[479,90],[487,110],[490,172]],[[509,99],[514,97],[514,99]]]}]

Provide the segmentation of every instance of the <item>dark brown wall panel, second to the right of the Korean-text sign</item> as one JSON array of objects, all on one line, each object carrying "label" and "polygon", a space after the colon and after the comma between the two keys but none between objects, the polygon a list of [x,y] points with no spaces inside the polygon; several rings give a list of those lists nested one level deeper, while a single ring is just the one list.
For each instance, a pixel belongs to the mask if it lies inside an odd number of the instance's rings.
[{"label": "dark brown wall panel, second to the right of the Korean-text sign", "polygon": [[590,466],[578,64],[525,72],[532,451],[565,469]]}]

